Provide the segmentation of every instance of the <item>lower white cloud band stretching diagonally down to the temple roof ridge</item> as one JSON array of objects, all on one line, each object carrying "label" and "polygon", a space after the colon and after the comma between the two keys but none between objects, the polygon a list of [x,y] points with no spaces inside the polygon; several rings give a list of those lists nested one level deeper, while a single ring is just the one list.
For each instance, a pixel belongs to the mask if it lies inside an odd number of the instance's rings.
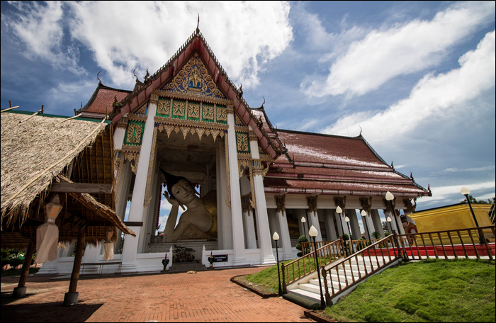
[{"label": "lower white cloud band stretching diagonally down to the temple roof ridge", "polygon": [[477,49],[466,52],[458,62],[461,65],[459,69],[437,76],[425,75],[412,89],[409,98],[386,111],[346,115],[323,132],[340,134],[351,127],[358,130],[360,125],[367,140],[381,142],[409,132],[429,120],[456,116],[457,112],[466,109],[464,101],[495,86],[495,31],[487,33]]}]

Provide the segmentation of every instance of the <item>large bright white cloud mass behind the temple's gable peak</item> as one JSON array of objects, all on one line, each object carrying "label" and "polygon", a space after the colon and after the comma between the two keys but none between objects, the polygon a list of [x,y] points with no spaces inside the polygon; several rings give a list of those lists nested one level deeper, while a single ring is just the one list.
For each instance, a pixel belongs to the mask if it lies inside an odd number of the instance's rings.
[{"label": "large bright white cloud mass behind the temple's gable peak", "polygon": [[[31,55],[73,71],[81,43],[118,86],[134,85],[132,71],[150,74],[200,29],[228,76],[245,87],[258,84],[257,73],[293,39],[286,2],[79,1],[17,4],[21,13],[9,26]],[[4,17],[2,16],[2,19]],[[62,50],[64,26],[72,46]],[[66,28],[67,29],[67,28]]]}]

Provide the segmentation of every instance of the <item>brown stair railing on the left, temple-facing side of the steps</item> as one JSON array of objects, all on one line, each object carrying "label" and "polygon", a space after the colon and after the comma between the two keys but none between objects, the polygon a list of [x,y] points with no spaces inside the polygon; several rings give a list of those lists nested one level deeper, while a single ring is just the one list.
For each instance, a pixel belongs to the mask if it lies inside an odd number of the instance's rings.
[{"label": "brown stair railing on the left, temple-facing side of the steps", "polygon": [[[313,248],[306,247],[308,251]],[[303,249],[303,247],[302,247]],[[342,239],[336,240],[317,248],[317,256],[320,264],[326,266],[336,259],[344,257],[344,242]],[[305,278],[311,273],[315,273],[319,266],[315,266],[315,251],[310,251],[308,254],[301,256],[290,263],[283,263],[281,271],[283,274],[283,293],[288,293],[287,286],[294,283],[296,280]]]}]

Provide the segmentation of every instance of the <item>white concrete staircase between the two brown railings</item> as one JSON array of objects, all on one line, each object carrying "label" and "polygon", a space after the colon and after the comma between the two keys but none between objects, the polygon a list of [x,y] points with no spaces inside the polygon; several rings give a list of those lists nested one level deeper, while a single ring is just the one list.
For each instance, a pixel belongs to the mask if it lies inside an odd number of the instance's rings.
[{"label": "white concrete staircase between the two brown railings", "polygon": [[[342,261],[343,259],[339,259],[337,261]],[[365,261],[365,265],[363,262]],[[334,266],[337,262],[334,261],[332,263],[329,263],[326,266],[326,269],[331,268]],[[340,264],[337,268],[338,270],[334,268],[332,270],[332,273],[327,274],[327,287],[329,290],[329,295],[331,296],[332,299],[339,299],[339,297],[342,297],[344,293],[349,293],[351,290],[354,288],[348,288],[341,292],[340,290],[343,290],[346,288],[346,286],[349,285],[357,285],[354,283],[354,281],[359,280],[360,278],[365,278],[366,276],[371,277],[371,271],[376,270],[379,266],[383,266],[383,259],[379,258],[376,259],[376,257],[362,257],[362,256],[356,256],[356,259],[350,259],[349,261],[346,261],[342,264]],[[393,266],[393,265],[388,265],[388,266]],[[322,282],[322,293],[325,293],[325,287],[324,287],[324,280],[322,279],[322,275],[319,273],[321,276],[321,282]],[[364,280],[361,280],[364,281]],[[331,283],[332,282],[332,283]],[[334,293],[333,293],[333,288],[334,288]],[[299,295],[300,297],[304,297],[308,300],[312,300],[315,302],[320,303],[320,287],[319,287],[319,280],[317,277],[317,273],[314,273],[314,275],[310,276],[307,280],[302,280],[297,284],[293,284],[291,286],[288,286],[288,293],[292,293],[295,295]],[[333,300],[334,302],[334,300]]]}]

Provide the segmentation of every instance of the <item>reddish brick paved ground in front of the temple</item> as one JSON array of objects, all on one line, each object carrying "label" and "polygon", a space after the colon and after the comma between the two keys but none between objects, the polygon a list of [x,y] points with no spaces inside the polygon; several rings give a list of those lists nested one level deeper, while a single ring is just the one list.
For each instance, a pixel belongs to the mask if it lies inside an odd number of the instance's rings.
[{"label": "reddish brick paved ground in front of the temple", "polygon": [[263,268],[79,280],[79,304],[63,307],[69,280],[28,278],[28,297],[11,293],[18,278],[1,278],[2,322],[310,322],[303,307],[263,299],[230,282]]}]

